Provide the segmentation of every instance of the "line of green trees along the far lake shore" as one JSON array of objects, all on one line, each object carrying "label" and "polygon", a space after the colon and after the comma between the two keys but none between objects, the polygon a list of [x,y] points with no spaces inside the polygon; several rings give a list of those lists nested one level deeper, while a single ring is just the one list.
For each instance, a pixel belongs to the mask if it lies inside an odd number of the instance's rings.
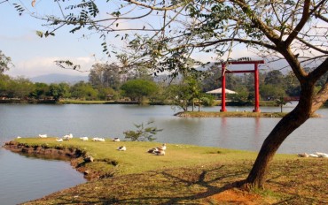
[{"label": "line of green trees along the far lake shore", "polygon": [[[2,99],[28,100],[30,102],[58,102],[60,99],[85,101],[122,101],[137,103],[174,104],[184,110],[192,104],[212,105],[209,90],[221,87],[221,66],[210,65],[206,70],[183,73],[175,79],[168,75],[154,76],[144,69],[123,71],[116,64],[92,65],[88,82],[46,84],[32,82],[24,77],[12,78],[0,74]],[[324,76],[325,77],[325,76]],[[324,85],[324,77],[318,80],[316,89]],[[229,95],[238,105],[254,101],[254,74],[227,74],[226,87],[237,92]],[[274,101],[282,97],[297,98],[301,85],[291,72],[278,70],[260,72],[260,95],[262,101]],[[217,97],[217,96],[216,96]]]}]

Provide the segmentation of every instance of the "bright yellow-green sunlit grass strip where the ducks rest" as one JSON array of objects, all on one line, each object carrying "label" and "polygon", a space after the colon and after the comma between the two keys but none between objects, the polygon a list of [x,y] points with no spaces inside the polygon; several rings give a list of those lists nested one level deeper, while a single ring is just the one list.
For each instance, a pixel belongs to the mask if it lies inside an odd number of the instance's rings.
[{"label": "bright yellow-green sunlit grass strip where the ducks rest", "polygon": [[[101,141],[82,141],[78,138],[57,142],[55,138],[21,138],[20,143],[30,146],[46,146],[50,148],[79,148],[86,155],[93,156],[95,163],[88,167],[101,172],[116,174],[141,173],[160,169],[206,165],[217,162],[254,161],[256,153],[250,151],[231,150],[225,148],[199,147],[194,145],[167,144],[165,156],[154,156],[147,153],[149,148],[158,147],[160,142],[120,141],[112,139]],[[125,146],[127,151],[118,151]],[[286,156],[281,156],[285,158]],[[287,156],[292,157],[292,156]],[[117,163],[113,170],[113,163]]]}]

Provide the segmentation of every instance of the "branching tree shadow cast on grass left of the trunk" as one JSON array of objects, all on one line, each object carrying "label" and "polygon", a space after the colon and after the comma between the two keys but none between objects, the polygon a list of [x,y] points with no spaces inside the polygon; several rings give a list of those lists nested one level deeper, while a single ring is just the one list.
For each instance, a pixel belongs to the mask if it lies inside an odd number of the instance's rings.
[{"label": "branching tree shadow cast on grass left of the trunk", "polygon": [[[213,172],[220,172],[220,170],[224,167],[224,165],[208,170],[208,171],[200,171],[200,173],[195,174],[191,172],[191,175],[181,174],[180,172],[172,172],[172,171],[161,171],[155,172],[156,175],[159,175],[165,178],[166,181],[173,182],[171,186],[166,186],[162,192],[156,192],[154,190],[153,196],[150,197],[137,197],[137,198],[129,198],[126,200],[119,200],[118,203],[120,204],[130,204],[130,203],[155,203],[155,204],[180,204],[180,203],[187,203],[192,204],[194,201],[195,204],[199,204],[199,202],[204,200],[205,198],[213,195],[219,194],[227,189],[237,187],[238,182],[236,183],[222,183],[222,181],[230,181],[229,178],[238,178],[242,177],[247,173],[247,171],[233,171],[230,174],[224,174],[222,176],[211,176],[207,177],[207,175],[213,175]],[[214,178],[213,178],[214,177]],[[218,184],[220,186],[215,186]],[[184,187],[182,187],[184,186]],[[200,192],[192,191],[192,187],[198,186],[197,190]],[[189,188],[188,188],[189,187]],[[172,189],[168,191],[168,189]],[[181,190],[187,189],[186,191],[180,193]],[[163,196],[164,194],[164,196]]]}]

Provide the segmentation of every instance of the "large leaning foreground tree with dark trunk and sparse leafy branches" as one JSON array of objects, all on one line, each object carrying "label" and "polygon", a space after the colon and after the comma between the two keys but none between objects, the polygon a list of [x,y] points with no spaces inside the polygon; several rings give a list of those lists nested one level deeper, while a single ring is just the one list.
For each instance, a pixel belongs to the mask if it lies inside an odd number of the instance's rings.
[{"label": "large leaning foreground tree with dark trunk and sparse leafy branches", "polygon": [[[32,3],[35,5],[35,0]],[[59,4],[59,16],[35,16],[52,27],[39,32],[40,36],[54,35],[61,27],[71,27],[71,33],[87,28],[100,34],[108,55],[117,52],[109,42],[116,36],[128,42],[125,49],[130,50],[125,50],[125,54],[130,54],[129,64],[141,64],[155,72],[189,71],[197,63],[194,54],[202,52],[215,54],[224,63],[230,60],[231,52],[238,49],[238,45],[272,61],[284,59],[286,68],[300,81],[300,101],[264,140],[245,180],[246,187],[262,187],[277,149],[328,98],[327,80],[319,92],[315,93],[314,89],[316,81],[328,70],[326,0],[121,0],[101,3],[82,0],[81,4],[73,5],[62,0],[55,3]],[[20,13],[24,11],[18,4],[16,9]],[[307,71],[305,67],[311,69]]]}]

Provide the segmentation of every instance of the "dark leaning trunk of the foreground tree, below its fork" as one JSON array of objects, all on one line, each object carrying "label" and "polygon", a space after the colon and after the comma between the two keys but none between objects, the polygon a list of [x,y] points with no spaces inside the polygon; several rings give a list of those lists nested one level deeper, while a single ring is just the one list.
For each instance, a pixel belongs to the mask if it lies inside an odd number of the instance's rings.
[{"label": "dark leaning trunk of the foreground tree, below its fork", "polygon": [[303,84],[301,88],[301,96],[298,105],[293,111],[279,121],[271,133],[269,133],[269,136],[264,140],[252,171],[250,171],[243,185],[244,187],[263,187],[265,173],[277,149],[289,134],[293,133],[294,130],[310,117],[314,86]]}]

